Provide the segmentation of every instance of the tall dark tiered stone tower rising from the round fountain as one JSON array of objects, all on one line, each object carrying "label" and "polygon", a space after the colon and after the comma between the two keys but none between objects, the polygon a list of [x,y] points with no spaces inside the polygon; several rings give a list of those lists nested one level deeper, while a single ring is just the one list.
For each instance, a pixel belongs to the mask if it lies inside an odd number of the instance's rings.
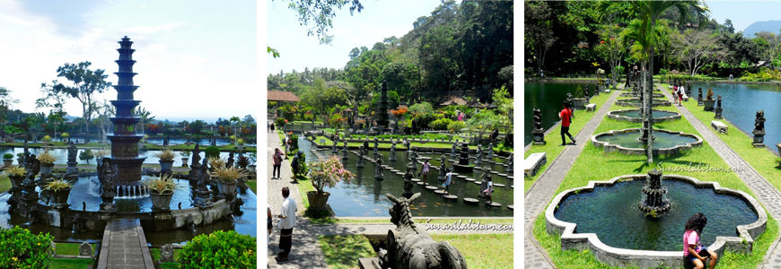
[{"label": "tall dark tiered stone tower rising from the round fountain", "polygon": [[133,92],[138,86],[133,85],[133,52],[130,48],[133,41],[123,38],[119,43],[119,59],[114,61],[119,65],[119,71],[114,73],[118,76],[118,82],[114,85],[117,90],[117,100],[112,100],[111,104],[116,108],[116,117],[111,117],[111,123],[114,124],[114,134],[108,135],[111,141],[111,159],[117,164],[117,186],[136,186],[141,180],[141,164],[146,158],[138,157],[138,142],[143,135],[136,134],[136,124],[140,117],[136,117],[134,110],[141,102],[133,100]]}]

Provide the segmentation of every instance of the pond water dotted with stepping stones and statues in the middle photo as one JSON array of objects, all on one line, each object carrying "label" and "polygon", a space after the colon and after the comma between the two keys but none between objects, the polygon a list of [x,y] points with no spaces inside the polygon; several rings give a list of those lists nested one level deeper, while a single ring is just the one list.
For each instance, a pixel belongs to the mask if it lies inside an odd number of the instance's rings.
[{"label": "pond water dotted with stepping stones and statues in the middle photo", "polygon": [[[312,143],[300,138],[299,147],[303,152],[307,153],[307,161],[317,161],[317,158],[310,152]],[[399,147],[401,148],[401,147]],[[329,156],[331,150],[319,152],[321,155]],[[407,152],[399,150],[396,152],[397,161],[389,161],[388,157],[390,152],[380,152],[384,156],[385,164],[389,165],[399,171],[407,171],[406,165]],[[372,152],[368,152],[369,156],[372,156]],[[431,173],[427,178],[427,182],[430,185],[441,187],[442,185],[436,179],[438,171],[433,169],[439,167],[439,159],[441,154],[431,153],[419,153],[420,157],[432,158]],[[341,151],[338,156],[342,156]],[[450,154],[445,155],[450,159]],[[485,156],[485,155],[484,155]],[[349,160],[343,161],[345,167],[356,174],[356,177],[349,183],[344,181],[339,182],[336,187],[326,188],[326,191],[331,195],[329,197],[329,204],[331,209],[339,217],[387,217],[388,209],[392,205],[386,193],[401,196],[404,187],[404,178],[390,172],[389,169],[385,169],[383,174],[384,180],[374,180],[374,164],[370,161],[364,160],[364,167],[358,169],[355,167],[358,156],[350,153]],[[505,160],[498,158],[494,159],[499,163],[505,163]],[[469,161],[473,164],[474,160]],[[452,162],[448,161],[449,167],[452,166]],[[490,165],[486,161],[483,165]],[[491,165],[491,169],[505,174],[505,167],[501,165]],[[421,170],[421,166],[417,165],[417,170]],[[478,179],[482,176],[482,170],[476,169],[471,173],[461,173],[462,176],[467,178]],[[416,175],[417,176],[417,175]],[[418,178],[418,177],[415,177]],[[434,194],[433,191],[418,186],[417,184],[413,188],[414,193],[421,193],[421,196],[417,198],[411,206],[413,216],[512,216],[513,211],[508,210],[506,205],[513,204],[513,180],[505,177],[491,174],[491,178],[494,180],[494,184],[504,184],[505,187],[495,187],[493,200],[496,203],[502,204],[502,207],[488,207],[483,204],[482,199],[478,199],[479,185],[466,180],[459,180],[453,176],[453,184],[450,187],[452,195],[459,196],[458,201],[445,200],[442,195]],[[310,183],[303,183],[310,184]],[[463,198],[476,198],[480,200],[479,204],[464,204]]]}]

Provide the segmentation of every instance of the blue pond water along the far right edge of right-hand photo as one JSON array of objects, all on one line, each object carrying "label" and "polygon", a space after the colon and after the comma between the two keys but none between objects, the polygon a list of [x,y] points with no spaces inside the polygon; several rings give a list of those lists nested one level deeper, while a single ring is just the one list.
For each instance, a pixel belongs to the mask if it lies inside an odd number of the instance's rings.
[{"label": "blue pond water along the far right edge of right-hand photo", "polygon": [[[781,143],[781,86],[759,84],[691,84],[692,93],[697,96],[697,89],[702,87],[703,98],[707,88],[713,89],[714,98],[722,96],[722,116],[732,122],[745,133],[751,135],[754,130],[754,119],[759,109],[765,110],[765,144],[777,151],[776,144]],[[695,100],[697,101],[697,100]],[[751,139],[746,138],[746,143]]]}]

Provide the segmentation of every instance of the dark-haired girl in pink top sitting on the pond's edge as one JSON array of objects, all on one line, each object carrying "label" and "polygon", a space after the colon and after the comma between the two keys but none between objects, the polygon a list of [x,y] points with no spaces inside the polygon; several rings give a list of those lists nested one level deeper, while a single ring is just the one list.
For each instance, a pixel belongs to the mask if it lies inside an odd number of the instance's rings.
[{"label": "dark-haired girl in pink top sitting on the pond's edge", "polygon": [[695,268],[703,269],[706,265],[706,259],[710,257],[710,263],[708,268],[713,269],[715,267],[718,256],[713,251],[710,251],[706,247],[703,247],[699,243],[702,230],[705,229],[707,224],[707,218],[703,213],[696,213],[689,221],[686,221],[686,226],[683,232],[683,257],[685,260],[694,264]]}]

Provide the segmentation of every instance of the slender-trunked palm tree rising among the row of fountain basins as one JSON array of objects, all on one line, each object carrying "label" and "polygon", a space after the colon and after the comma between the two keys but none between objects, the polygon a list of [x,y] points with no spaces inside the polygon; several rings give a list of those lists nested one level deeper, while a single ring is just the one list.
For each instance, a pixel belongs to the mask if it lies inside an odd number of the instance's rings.
[{"label": "slender-trunked palm tree rising among the row of fountain basins", "polygon": [[[619,4],[616,2],[601,2],[601,11],[603,13],[607,11],[607,8],[611,4]],[[653,100],[654,91],[654,45],[657,43],[656,39],[656,20],[669,8],[675,7],[680,13],[680,20],[683,21],[694,15],[700,22],[706,20],[708,8],[706,4],[700,0],[684,0],[684,1],[634,1],[630,5],[630,13],[634,18],[640,20],[640,25],[637,28],[635,35],[636,41],[644,49],[645,65],[642,70],[643,83],[645,90],[645,118],[648,122],[647,127],[643,130],[643,136],[646,142],[645,153],[648,158],[648,163],[654,162],[653,157],[653,116],[651,110],[651,102]]]}]

